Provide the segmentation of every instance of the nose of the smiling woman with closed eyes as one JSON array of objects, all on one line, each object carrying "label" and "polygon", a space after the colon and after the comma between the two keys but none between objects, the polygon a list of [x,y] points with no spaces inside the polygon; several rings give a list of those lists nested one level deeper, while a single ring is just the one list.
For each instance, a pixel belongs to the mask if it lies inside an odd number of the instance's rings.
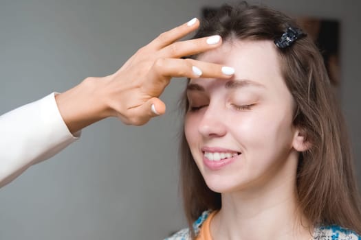
[{"label": "nose of the smiling woman with closed eyes", "polygon": [[219,137],[226,134],[226,127],[223,124],[224,116],[216,106],[208,105],[204,115],[199,122],[198,131],[204,137]]}]

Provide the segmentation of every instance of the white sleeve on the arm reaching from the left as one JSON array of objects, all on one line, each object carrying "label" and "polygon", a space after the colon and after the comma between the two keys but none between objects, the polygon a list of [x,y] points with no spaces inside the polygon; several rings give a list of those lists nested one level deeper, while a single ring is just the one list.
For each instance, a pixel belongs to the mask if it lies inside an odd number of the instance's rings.
[{"label": "white sleeve on the arm reaching from the left", "polygon": [[55,93],[0,116],[0,187],[31,165],[76,141],[58,110]]}]

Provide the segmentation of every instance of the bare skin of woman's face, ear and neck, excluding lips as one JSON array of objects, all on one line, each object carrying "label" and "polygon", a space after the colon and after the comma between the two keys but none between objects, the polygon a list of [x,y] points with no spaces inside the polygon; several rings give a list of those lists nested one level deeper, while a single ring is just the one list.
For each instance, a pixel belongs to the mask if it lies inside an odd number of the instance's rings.
[{"label": "bare skin of woman's face, ear and neck, excluding lips", "polygon": [[[222,196],[210,224],[212,237],[309,239],[309,229],[298,221],[303,215],[296,197],[298,152],[307,145],[292,125],[294,101],[274,44],[230,40],[198,60],[235,69],[228,81],[191,79],[187,91],[186,139],[206,184]],[[244,80],[249,83],[227,83]],[[204,164],[203,147],[241,154],[212,170]]]}]

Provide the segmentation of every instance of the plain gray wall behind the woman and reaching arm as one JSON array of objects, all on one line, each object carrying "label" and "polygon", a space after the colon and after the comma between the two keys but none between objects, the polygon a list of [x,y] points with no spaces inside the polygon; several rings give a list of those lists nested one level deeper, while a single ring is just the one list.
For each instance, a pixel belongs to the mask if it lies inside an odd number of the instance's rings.
[{"label": "plain gray wall behind the woman and reaching arm", "polygon": [[[292,14],[342,22],[341,100],[361,158],[360,1],[263,1]],[[166,29],[219,1],[1,0],[0,114],[116,71]],[[107,119],[80,141],[0,190],[0,239],[162,239],[185,226],[177,184],[176,103],[140,128]],[[361,182],[361,164],[358,163]]]}]

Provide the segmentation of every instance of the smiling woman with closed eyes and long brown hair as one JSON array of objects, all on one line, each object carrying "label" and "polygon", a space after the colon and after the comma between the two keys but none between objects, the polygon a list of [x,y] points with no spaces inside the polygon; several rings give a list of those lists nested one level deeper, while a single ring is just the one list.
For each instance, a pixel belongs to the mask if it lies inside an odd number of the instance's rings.
[{"label": "smiling woman with closed eyes and long brown hair", "polygon": [[188,82],[189,228],[170,239],[360,239],[349,142],[312,40],[284,14],[244,2],[201,23],[195,38],[223,44],[193,58],[235,73]]}]

